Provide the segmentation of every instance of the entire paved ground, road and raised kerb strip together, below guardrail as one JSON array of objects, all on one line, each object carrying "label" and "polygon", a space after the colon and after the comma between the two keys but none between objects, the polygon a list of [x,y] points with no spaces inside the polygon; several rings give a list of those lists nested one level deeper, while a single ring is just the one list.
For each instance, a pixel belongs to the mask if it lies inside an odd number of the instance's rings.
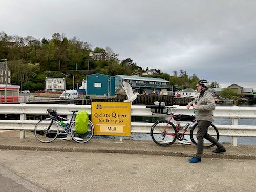
[{"label": "entire paved ground, road and raised kerb strip together, below guardrail", "polygon": [[0,131],[0,191],[255,191],[253,145],[225,154],[204,150],[189,163],[195,145],[160,147],[153,141],[96,139],[41,143],[33,134]]}]

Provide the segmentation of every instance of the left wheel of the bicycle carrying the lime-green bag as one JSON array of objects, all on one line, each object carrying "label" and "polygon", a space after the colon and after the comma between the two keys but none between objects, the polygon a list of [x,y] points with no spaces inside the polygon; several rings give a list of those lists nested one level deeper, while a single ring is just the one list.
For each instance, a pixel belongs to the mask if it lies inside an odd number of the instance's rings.
[{"label": "left wheel of the bicycle carrying the lime-green bag", "polygon": [[[50,128],[49,128],[50,127]],[[58,124],[52,119],[40,120],[35,125],[35,138],[42,143],[50,143],[54,141],[59,133]]]}]

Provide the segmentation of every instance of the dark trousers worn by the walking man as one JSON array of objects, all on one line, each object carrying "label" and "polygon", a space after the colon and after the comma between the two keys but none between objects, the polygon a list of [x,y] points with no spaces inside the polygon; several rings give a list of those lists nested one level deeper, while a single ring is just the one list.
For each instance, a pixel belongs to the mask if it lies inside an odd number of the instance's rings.
[{"label": "dark trousers worn by the walking man", "polygon": [[223,148],[223,145],[220,144],[214,137],[210,136],[207,131],[210,126],[210,121],[198,121],[198,130],[197,130],[197,153],[196,157],[201,158],[204,150],[204,138],[215,144],[217,148]]}]

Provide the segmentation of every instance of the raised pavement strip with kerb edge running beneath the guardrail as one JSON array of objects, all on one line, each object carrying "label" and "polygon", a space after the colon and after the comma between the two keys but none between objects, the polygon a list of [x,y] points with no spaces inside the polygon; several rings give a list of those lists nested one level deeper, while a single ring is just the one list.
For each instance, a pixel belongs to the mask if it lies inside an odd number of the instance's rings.
[{"label": "raised pavement strip with kerb edge running beneath the guardrail", "polygon": [[[122,142],[114,139],[94,139],[88,143],[76,143],[73,140],[55,140],[51,143],[37,141],[31,132],[26,133],[25,139],[19,138],[19,131],[5,131],[0,133],[0,149],[6,150],[37,150],[37,151],[65,151],[65,152],[102,152],[144,155],[164,155],[190,157],[196,152],[196,145],[175,143],[161,147],[153,141],[135,141],[125,139]],[[226,152],[215,154],[214,147],[204,149],[203,158],[221,159],[256,159],[256,145],[231,146],[223,144]]]}]

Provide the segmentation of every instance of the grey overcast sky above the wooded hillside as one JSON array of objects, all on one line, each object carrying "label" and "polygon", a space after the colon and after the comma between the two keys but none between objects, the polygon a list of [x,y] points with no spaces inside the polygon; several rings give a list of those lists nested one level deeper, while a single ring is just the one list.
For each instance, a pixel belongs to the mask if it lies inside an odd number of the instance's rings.
[{"label": "grey overcast sky above the wooded hillside", "polygon": [[256,89],[254,0],[0,0],[0,31],[76,36],[120,60]]}]

